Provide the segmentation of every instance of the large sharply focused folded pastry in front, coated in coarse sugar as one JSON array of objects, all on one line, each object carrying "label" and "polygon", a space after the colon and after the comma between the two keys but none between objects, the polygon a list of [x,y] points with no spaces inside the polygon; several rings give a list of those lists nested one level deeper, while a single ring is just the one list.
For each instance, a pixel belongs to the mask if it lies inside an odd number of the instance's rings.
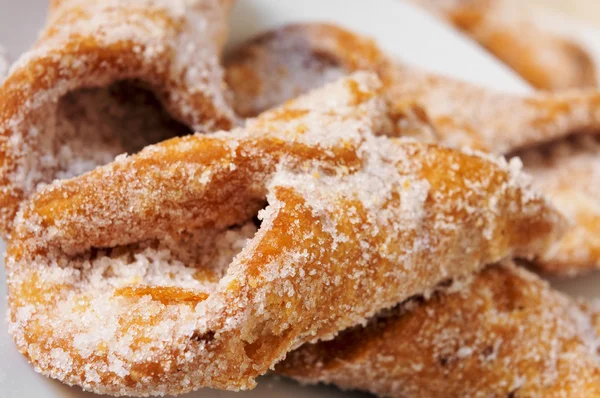
[{"label": "large sharply focused folded pastry in front, coated in coarse sugar", "polygon": [[375,137],[379,90],[359,73],[34,194],[6,259],[20,351],[95,392],[250,388],[303,343],[556,239],[518,164]]}]

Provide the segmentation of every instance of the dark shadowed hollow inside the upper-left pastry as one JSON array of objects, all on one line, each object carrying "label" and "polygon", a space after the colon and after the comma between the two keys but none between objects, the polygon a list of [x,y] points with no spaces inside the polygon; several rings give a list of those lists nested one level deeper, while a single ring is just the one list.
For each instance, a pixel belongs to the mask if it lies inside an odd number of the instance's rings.
[{"label": "dark shadowed hollow inside the upper-left pastry", "polygon": [[34,192],[48,176],[74,177],[122,153],[136,153],[146,145],[190,132],[162,109],[152,93],[132,82],[69,93],[49,111],[56,114],[46,115],[47,124],[38,138],[39,147],[48,153],[32,153],[39,156],[37,166],[15,177],[26,192]]}]

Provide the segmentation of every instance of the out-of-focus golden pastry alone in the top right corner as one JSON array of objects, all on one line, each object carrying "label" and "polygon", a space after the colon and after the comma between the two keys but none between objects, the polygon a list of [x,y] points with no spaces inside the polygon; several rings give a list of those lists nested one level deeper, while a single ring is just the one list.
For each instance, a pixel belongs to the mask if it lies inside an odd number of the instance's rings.
[{"label": "out-of-focus golden pastry alone in the top right corner", "polygon": [[544,90],[597,87],[597,65],[581,44],[541,27],[506,0],[411,0],[441,16]]}]

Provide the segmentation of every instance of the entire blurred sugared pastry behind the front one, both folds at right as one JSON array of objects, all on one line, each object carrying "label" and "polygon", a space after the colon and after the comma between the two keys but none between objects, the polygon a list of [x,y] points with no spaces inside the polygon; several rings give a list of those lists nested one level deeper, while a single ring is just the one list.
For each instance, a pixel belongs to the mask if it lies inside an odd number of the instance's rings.
[{"label": "entire blurred sugared pastry behind the front one, both folds at right", "polygon": [[[590,145],[597,142],[591,134],[600,131],[597,92],[529,97],[490,92],[395,64],[373,41],[331,25],[283,27],[226,57],[234,107],[245,116],[357,69],[383,79],[396,134],[523,158],[526,171],[572,221],[537,266],[563,275],[600,267],[600,193],[593,183],[600,157],[598,144]],[[588,144],[573,146],[577,140]],[[557,148],[551,159],[547,147]]]}]

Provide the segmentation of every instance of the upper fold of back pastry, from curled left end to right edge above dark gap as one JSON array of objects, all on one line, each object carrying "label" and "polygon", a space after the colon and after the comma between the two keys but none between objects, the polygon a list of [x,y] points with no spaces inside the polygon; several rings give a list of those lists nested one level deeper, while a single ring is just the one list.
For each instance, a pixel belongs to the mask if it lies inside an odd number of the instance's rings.
[{"label": "upper fold of back pastry, from curled left end to right edge above dark gap", "polygon": [[[310,67],[298,68],[300,62]],[[246,116],[361,69],[383,79],[391,116],[405,136],[506,154],[600,129],[600,96],[594,91],[496,93],[395,64],[373,41],[332,25],[285,26],[242,44],[226,59],[236,108]]]}]

